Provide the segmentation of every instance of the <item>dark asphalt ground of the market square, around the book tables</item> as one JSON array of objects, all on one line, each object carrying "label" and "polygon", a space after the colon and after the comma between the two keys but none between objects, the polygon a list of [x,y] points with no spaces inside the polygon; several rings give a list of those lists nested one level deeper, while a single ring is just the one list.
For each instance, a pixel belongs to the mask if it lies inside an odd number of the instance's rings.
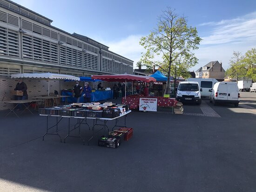
[{"label": "dark asphalt ground of the market square, around the book tables", "polygon": [[[44,117],[4,118],[1,111],[0,189],[253,192],[255,110],[256,93],[243,92],[239,107],[204,99],[201,106],[184,105],[183,115],[133,111],[127,125],[134,136],[117,149],[99,147],[97,139],[90,146],[77,138],[42,141]],[[67,121],[60,129],[61,137],[67,135]],[[89,134],[86,127],[82,134]]]}]

